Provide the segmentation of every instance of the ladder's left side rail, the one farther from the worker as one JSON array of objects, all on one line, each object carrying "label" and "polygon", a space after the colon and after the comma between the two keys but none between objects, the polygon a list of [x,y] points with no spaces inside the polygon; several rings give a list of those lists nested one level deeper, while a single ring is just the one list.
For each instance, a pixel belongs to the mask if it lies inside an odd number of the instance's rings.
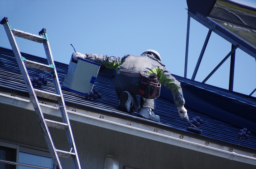
[{"label": "ladder's left side rail, the one farther from the worker", "polygon": [[[24,62],[21,59],[22,56],[20,54],[20,51],[19,51],[18,45],[16,43],[15,37],[14,37],[12,31],[11,31],[11,28],[9,27],[9,23],[8,22],[4,23],[3,26],[4,26],[4,29],[5,29],[5,32],[6,32],[7,36],[8,36],[8,39],[10,41],[10,44],[12,46],[13,53],[14,53],[14,55],[16,57],[17,62],[18,62],[18,65],[19,65],[22,77],[23,77],[24,82],[26,84],[26,87],[28,89],[28,93],[29,93],[30,99],[31,99],[32,104],[33,104],[33,106],[35,108],[35,112],[36,112],[36,115],[38,117],[39,123],[41,125],[41,129],[42,129],[42,131],[44,133],[44,137],[45,137],[45,140],[47,142],[49,151],[50,151],[50,153],[52,155],[53,163],[54,163],[54,165],[56,167],[59,166],[58,168],[61,169],[62,167],[60,165],[60,160],[58,158],[57,152],[53,148],[54,144],[53,144],[53,141],[52,141],[52,137],[50,136],[50,132],[49,132],[48,127],[46,127],[47,124],[46,124],[46,122],[45,122],[45,120],[43,118],[44,115],[42,113],[42,110],[41,110],[40,105],[38,103],[38,100],[36,98],[36,93],[35,93],[35,91],[34,91],[34,89],[32,87],[32,83],[30,81],[30,77],[28,75],[28,72],[27,72],[27,69],[25,67],[25,64],[24,64]],[[52,146],[50,146],[50,145],[52,145]]]}]

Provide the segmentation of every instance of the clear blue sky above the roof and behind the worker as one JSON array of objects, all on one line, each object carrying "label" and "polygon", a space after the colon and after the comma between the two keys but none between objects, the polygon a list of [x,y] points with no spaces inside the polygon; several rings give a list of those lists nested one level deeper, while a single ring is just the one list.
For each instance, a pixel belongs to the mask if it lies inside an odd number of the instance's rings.
[{"label": "clear blue sky above the roof and behind the worker", "polygon": [[[256,7],[255,0],[241,1]],[[38,34],[46,28],[54,61],[69,63],[77,52],[122,57],[156,50],[166,69],[184,77],[187,3],[171,1],[5,1],[0,0],[0,19],[8,17],[15,29]],[[191,78],[208,29],[191,18],[188,73]],[[0,46],[11,48],[0,26]],[[45,58],[42,44],[16,38],[19,49]],[[230,52],[231,44],[212,33],[197,72],[205,77]],[[206,84],[228,89],[230,58]],[[234,91],[249,95],[256,87],[255,58],[236,50]],[[256,97],[256,93],[253,95]]]}]

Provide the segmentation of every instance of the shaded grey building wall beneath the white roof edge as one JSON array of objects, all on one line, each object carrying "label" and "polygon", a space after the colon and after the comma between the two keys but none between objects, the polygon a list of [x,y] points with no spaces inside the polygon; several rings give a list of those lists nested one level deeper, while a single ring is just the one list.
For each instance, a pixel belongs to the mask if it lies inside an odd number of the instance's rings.
[{"label": "shaded grey building wall beneath the white roof edge", "polygon": [[[0,104],[0,139],[47,148],[43,132],[33,111]],[[45,118],[60,121],[60,118],[45,115]],[[198,151],[133,136],[110,129],[71,121],[76,147],[82,168],[104,168],[106,155],[124,166],[142,168],[253,168],[238,161],[220,158]],[[60,150],[68,151],[65,130],[52,129],[53,142]],[[64,148],[62,148],[64,147]],[[63,168],[73,168],[72,160],[61,158]]]}]

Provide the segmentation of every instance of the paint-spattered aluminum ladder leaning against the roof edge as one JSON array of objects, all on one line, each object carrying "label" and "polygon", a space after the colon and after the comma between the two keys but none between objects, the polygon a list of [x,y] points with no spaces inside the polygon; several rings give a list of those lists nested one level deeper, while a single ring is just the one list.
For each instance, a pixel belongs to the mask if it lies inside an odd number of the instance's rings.
[{"label": "paint-spattered aluminum ladder leaning against the roof edge", "polygon": [[[61,91],[61,88],[60,88],[60,82],[59,82],[57,71],[55,69],[54,61],[53,61],[53,58],[52,58],[52,52],[51,52],[51,49],[50,49],[50,45],[49,45],[49,42],[48,42],[48,39],[47,39],[46,30],[43,28],[39,32],[39,36],[35,35],[35,34],[23,32],[23,31],[12,28],[11,25],[9,24],[9,22],[8,22],[8,18],[6,18],[6,17],[4,17],[1,20],[0,24],[4,25],[5,32],[8,36],[10,44],[12,46],[13,53],[16,57],[17,62],[18,62],[21,74],[24,78],[25,84],[26,84],[27,89],[28,89],[30,99],[33,103],[33,106],[34,106],[35,111],[36,111],[36,115],[38,117],[38,120],[39,120],[39,123],[41,125],[42,131],[44,133],[44,137],[45,137],[45,140],[47,142],[49,151],[52,155],[52,160],[53,160],[55,168],[56,169],[61,169],[62,168],[62,166],[60,164],[59,157],[73,158],[75,168],[81,168],[79,158],[78,158],[78,154],[77,154],[77,151],[76,151],[76,145],[75,145],[73,133],[72,133],[72,130],[71,130],[69,119],[68,119],[68,114],[67,114],[65,102],[64,102],[62,91]],[[33,62],[33,61],[29,61],[29,60],[26,60],[24,57],[22,57],[14,36],[18,36],[20,38],[32,40],[32,41],[35,41],[35,42],[38,42],[38,43],[43,43],[44,44],[44,50],[45,50],[45,53],[46,53],[46,57],[47,57],[47,60],[48,60],[48,65]],[[35,68],[35,69],[38,69],[38,70],[43,70],[43,71],[50,72],[51,75],[52,75],[52,80],[53,80],[53,84],[54,84],[54,88],[55,88],[56,93],[50,93],[50,92],[45,92],[45,91],[42,91],[42,90],[34,89],[32,83],[31,83],[31,80],[28,76],[28,71],[26,69],[26,66],[31,67],[31,68]],[[47,98],[47,99],[52,99],[52,100],[58,100],[61,115],[62,115],[62,119],[63,119],[63,123],[58,122],[58,121],[52,121],[52,120],[44,119],[44,114],[43,114],[43,112],[41,110],[41,107],[39,105],[37,96]],[[70,147],[69,152],[68,151],[62,151],[62,150],[57,150],[55,148],[55,146],[53,144],[53,141],[52,141],[51,134],[50,134],[49,129],[48,129],[47,126],[66,130],[66,134],[67,134],[67,137],[68,137],[68,143],[69,143],[69,147]]]}]

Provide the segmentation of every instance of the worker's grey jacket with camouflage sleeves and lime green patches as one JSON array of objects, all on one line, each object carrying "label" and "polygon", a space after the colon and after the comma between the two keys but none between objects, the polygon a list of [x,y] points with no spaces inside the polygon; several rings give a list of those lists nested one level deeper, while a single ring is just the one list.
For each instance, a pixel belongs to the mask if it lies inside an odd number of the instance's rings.
[{"label": "worker's grey jacket with camouflage sleeves and lime green patches", "polygon": [[175,105],[181,107],[185,104],[180,82],[165,69],[165,65],[155,57],[147,54],[141,56],[124,55],[124,57],[109,57],[108,55],[86,54],[86,59],[99,63],[107,68],[131,70],[135,72],[147,72],[148,74],[156,73],[161,85],[172,91]]}]

